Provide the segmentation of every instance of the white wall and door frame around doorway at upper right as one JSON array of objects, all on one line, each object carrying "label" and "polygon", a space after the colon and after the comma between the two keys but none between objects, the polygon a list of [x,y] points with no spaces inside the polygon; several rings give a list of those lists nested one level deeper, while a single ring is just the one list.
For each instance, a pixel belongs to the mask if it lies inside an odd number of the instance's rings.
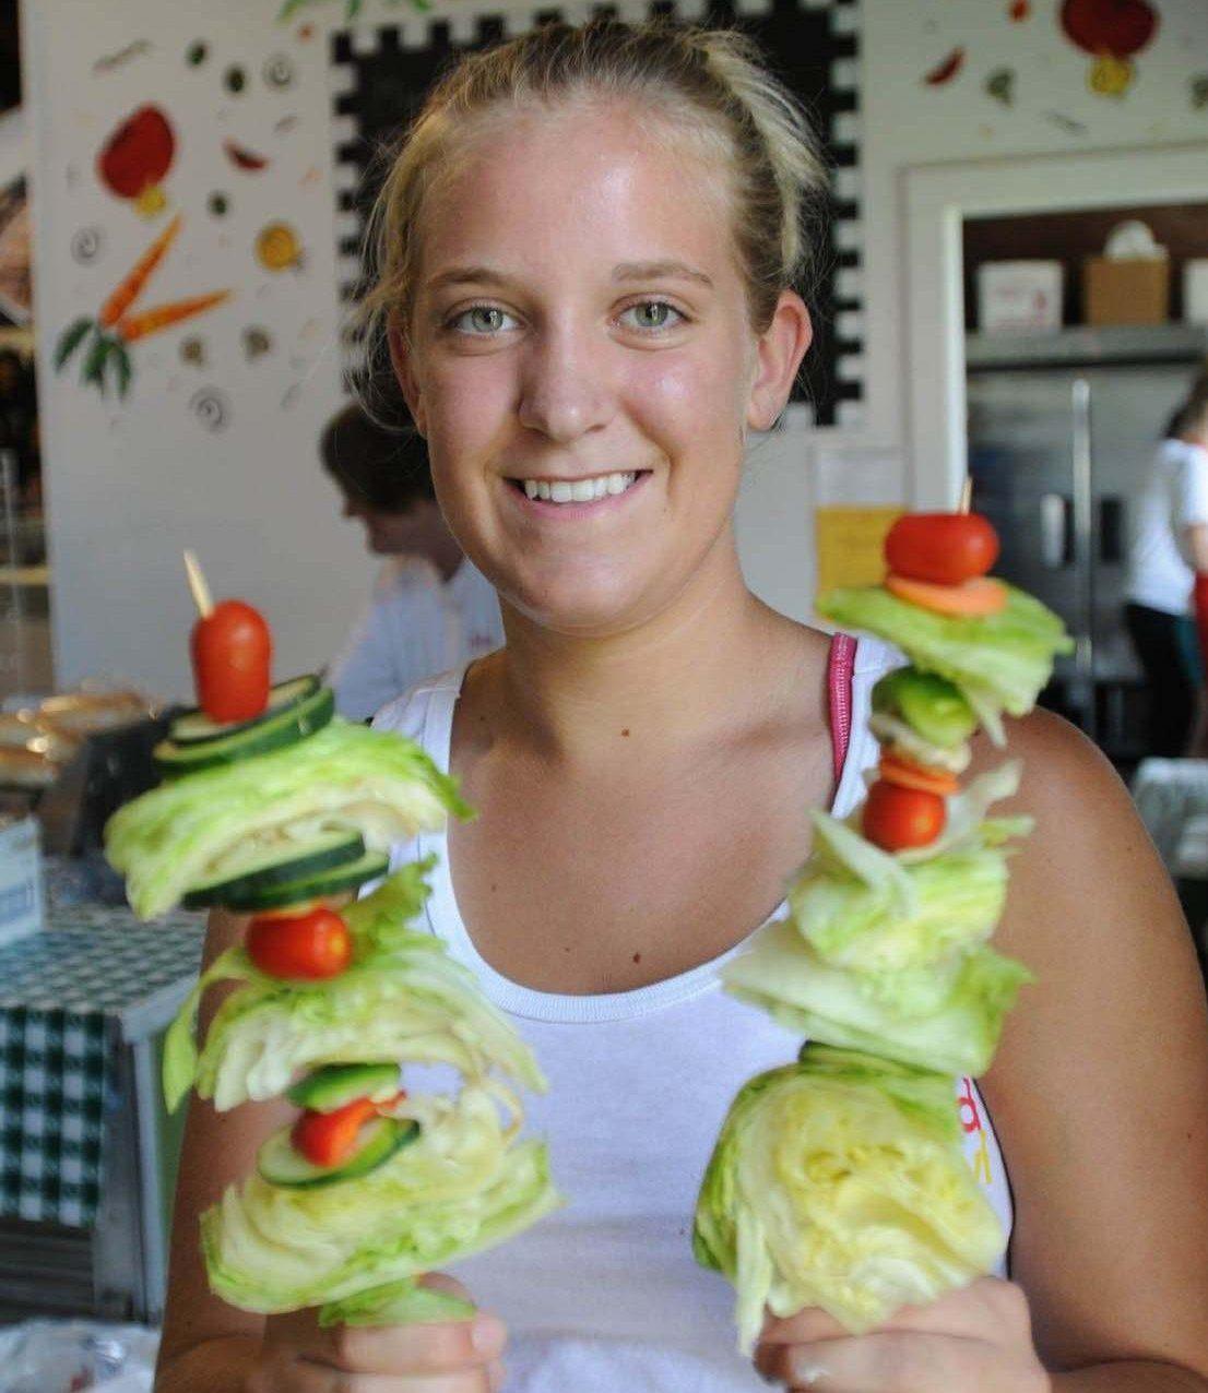
[{"label": "white wall and door frame around doorway at upper right", "polygon": [[[1023,155],[1076,162],[1090,150],[1115,150],[1116,169],[1127,170],[1145,149],[1208,139],[1208,107],[1197,109],[1191,92],[1193,79],[1208,71],[1208,4],[1152,3],[1161,14],[1156,36],[1137,54],[1129,91],[1108,98],[1091,92],[1092,59],[1060,32],[1055,0],[1034,0],[1024,22],[1010,20],[1007,0],[862,0],[869,435],[908,439],[908,167]],[[961,71],[947,85],[928,86],[924,74],[956,47],[966,50]],[[986,78],[1002,68],[1014,72],[1010,106],[985,91]],[[1060,184],[1060,163],[1052,178]],[[1208,169],[1186,196],[1208,196]],[[928,472],[942,471],[943,461],[915,460],[913,467],[927,492]]]}]

